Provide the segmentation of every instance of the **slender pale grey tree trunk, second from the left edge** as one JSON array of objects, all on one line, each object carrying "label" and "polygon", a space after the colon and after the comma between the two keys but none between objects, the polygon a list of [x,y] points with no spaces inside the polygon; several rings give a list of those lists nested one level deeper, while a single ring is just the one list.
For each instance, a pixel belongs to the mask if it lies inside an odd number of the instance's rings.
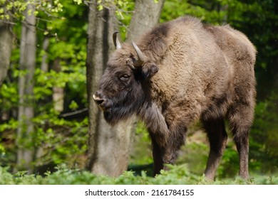
[{"label": "slender pale grey tree trunk, second from the left edge", "polygon": [[16,145],[18,146],[16,169],[32,171],[34,149],[34,70],[36,66],[36,18],[35,6],[28,4],[25,20],[21,29],[20,70],[24,75],[19,77],[19,127]]}]

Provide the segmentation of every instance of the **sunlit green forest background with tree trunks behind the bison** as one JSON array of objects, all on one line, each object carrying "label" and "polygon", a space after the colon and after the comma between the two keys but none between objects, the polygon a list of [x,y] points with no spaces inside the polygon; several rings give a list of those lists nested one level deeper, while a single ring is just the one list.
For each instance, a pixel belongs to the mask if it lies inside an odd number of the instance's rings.
[{"label": "sunlit green forest background with tree trunks behind the bison", "polygon": [[[0,166],[10,173],[87,169],[119,176],[151,171],[150,140],[133,121],[111,128],[92,93],[114,50],[113,31],[132,41],[156,23],[184,15],[229,23],[257,48],[257,106],[250,132],[251,175],[278,172],[278,1],[0,0]],[[228,130],[228,129],[227,129]],[[231,137],[231,136],[230,136]],[[177,165],[202,175],[202,129],[190,127]],[[217,178],[235,177],[232,139]]]}]

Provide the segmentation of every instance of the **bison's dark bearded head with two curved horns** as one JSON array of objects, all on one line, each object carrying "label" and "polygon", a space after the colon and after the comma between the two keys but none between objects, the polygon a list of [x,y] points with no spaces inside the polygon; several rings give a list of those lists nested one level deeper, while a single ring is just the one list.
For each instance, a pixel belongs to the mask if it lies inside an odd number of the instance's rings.
[{"label": "bison's dark bearded head with two curved horns", "polygon": [[93,95],[105,120],[112,125],[128,119],[149,101],[148,80],[158,72],[158,67],[150,63],[135,43],[122,48],[117,33],[113,34],[117,50],[108,61],[99,89]]}]

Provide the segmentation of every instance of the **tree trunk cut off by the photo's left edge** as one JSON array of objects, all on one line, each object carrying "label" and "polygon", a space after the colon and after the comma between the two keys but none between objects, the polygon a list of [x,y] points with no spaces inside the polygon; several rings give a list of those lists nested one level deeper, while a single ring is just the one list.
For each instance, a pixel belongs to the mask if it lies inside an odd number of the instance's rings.
[{"label": "tree trunk cut off by the photo's left edge", "polygon": [[11,23],[0,21],[0,87],[10,65],[12,37]]}]

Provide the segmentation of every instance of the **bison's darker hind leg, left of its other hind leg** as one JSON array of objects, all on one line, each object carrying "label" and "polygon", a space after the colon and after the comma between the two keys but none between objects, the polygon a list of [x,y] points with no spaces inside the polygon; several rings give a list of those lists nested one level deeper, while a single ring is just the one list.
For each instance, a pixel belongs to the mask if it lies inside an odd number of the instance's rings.
[{"label": "bison's darker hind leg, left of its other hind leg", "polygon": [[205,168],[205,177],[213,180],[227,143],[224,119],[202,121],[210,141],[210,154]]}]

